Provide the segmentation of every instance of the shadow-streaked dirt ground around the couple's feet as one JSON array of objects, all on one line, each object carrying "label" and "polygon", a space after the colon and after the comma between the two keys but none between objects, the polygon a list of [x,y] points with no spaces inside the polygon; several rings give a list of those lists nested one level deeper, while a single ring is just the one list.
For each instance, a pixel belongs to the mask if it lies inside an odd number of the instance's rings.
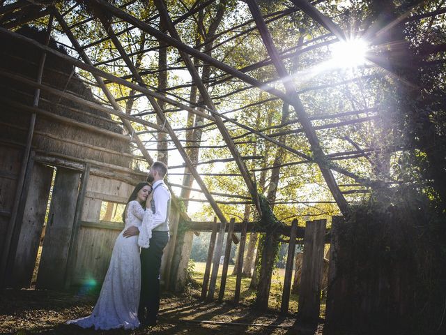
[{"label": "shadow-streaked dirt ground around the couple's feet", "polygon": [[64,325],[91,313],[95,295],[46,290],[3,290],[0,297],[1,334],[275,334],[322,335],[323,325],[295,325],[295,317],[259,313],[248,306],[203,303],[197,297],[162,298],[156,327],[134,331],[95,332]]}]

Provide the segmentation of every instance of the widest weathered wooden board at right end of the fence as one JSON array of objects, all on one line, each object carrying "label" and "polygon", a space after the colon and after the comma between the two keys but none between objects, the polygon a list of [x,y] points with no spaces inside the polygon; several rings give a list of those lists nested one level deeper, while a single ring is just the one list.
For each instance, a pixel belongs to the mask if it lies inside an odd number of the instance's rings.
[{"label": "widest weathered wooden board at right end of the fence", "polygon": [[298,315],[303,322],[318,322],[326,220],[308,221],[300,281]]}]

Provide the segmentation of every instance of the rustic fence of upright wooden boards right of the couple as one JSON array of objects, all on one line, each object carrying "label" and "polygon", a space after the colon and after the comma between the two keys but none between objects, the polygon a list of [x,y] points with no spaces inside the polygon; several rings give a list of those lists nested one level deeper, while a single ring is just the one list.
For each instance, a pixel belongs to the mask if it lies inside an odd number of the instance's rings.
[{"label": "rustic fence of upright wooden boards right of the couple", "polygon": [[[208,248],[208,257],[206,259],[206,268],[203,276],[203,285],[201,288],[201,299],[213,300],[217,284],[217,274],[220,267],[220,258],[222,257],[224,235],[226,234],[226,248],[224,248],[224,261],[222,265],[222,276],[220,278],[220,290],[217,301],[222,302],[226,289],[226,278],[228,276],[228,265],[231,253],[231,244],[233,232],[241,232],[240,246],[238,248],[238,269],[236,271],[236,289],[233,296],[233,303],[240,301],[240,289],[242,281],[243,255],[245,252],[245,241],[247,232],[261,232],[254,223],[235,223],[232,218],[226,223],[186,223],[189,229],[196,231],[210,231],[210,242]],[[328,241],[328,235],[325,234],[326,220],[307,221],[306,227],[299,227],[295,220],[291,226],[282,229],[282,234],[289,236],[290,239],[285,242],[289,244],[288,256],[286,258],[285,276],[283,283],[283,294],[281,301],[281,313],[288,313],[289,300],[291,295],[291,278],[293,276],[294,254],[297,239],[303,238],[303,264],[302,278],[299,295],[299,318],[305,322],[317,322],[321,305],[321,277],[323,270],[324,245]],[[284,241],[284,240],[282,240]],[[301,241],[299,241],[302,243]]]}]

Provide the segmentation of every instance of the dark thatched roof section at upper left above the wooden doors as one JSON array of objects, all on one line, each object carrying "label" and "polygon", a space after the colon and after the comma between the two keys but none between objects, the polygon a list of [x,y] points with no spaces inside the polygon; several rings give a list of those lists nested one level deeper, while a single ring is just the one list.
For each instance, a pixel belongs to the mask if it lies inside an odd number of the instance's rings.
[{"label": "dark thatched roof section at upper left above the wooden doors", "polygon": [[[45,44],[45,31],[22,27],[17,32]],[[0,76],[3,106],[0,140],[25,144],[30,112],[33,112],[30,107],[36,91],[36,87],[26,80],[36,82],[41,54],[29,45],[9,38],[4,38],[2,45],[0,70],[6,71],[8,76]],[[49,40],[49,47],[68,54],[53,38]],[[100,110],[99,105],[85,105],[75,100],[79,97],[99,104],[84,82],[73,66],[47,55],[42,80],[47,88],[40,92],[33,149],[37,154],[59,156],[68,161],[88,159],[129,168],[132,159],[130,137],[123,135],[121,125]],[[62,89],[69,96],[54,94],[51,88]]]}]

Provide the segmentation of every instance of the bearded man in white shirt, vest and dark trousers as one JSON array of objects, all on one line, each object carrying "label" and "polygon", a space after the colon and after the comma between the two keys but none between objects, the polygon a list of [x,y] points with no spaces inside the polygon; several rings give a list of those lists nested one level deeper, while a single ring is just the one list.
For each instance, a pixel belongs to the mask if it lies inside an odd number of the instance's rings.
[{"label": "bearded man in white shirt, vest and dark trousers", "polygon": [[[143,325],[156,325],[157,314],[160,309],[160,267],[162,251],[169,241],[169,211],[171,195],[164,177],[167,166],[162,162],[155,162],[148,172],[147,181],[152,184],[153,213],[152,238],[148,248],[141,248],[141,297],[139,299],[138,318]],[[125,237],[139,234],[137,227],[129,227]]]}]

